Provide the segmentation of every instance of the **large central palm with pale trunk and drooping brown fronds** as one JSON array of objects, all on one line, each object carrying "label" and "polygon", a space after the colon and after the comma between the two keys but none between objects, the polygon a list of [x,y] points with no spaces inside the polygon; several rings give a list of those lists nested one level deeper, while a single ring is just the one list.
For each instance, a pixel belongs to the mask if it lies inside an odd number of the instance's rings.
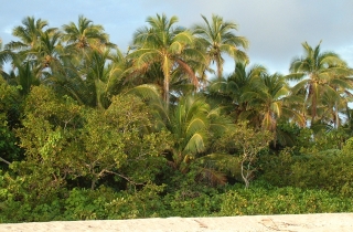
[{"label": "large central palm with pale trunk and drooping brown fronds", "polygon": [[[192,48],[194,38],[190,31],[173,27],[178,22],[176,17],[168,19],[165,14],[147,19],[150,28],[139,29],[133,35],[135,51],[128,55],[132,60],[135,71],[147,72],[150,67],[159,64],[163,73],[163,99],[169,105],[171,74],[180,68],[197,87],[199,81],[188,64],[189,59],[203,60],[203,54]],[[156,67],[156,66],[154,66]]]}]

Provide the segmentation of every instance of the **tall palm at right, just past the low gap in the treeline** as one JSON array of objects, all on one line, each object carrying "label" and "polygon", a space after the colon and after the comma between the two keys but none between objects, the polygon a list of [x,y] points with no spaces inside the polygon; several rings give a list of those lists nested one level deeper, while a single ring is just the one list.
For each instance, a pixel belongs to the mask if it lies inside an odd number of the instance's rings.
[{"label": "tall palm at right, just past the low gap in the treeline", "polygon": [[289,80],[299,81],[292,87],[292,93],[304,96],[307,107],[311,108],[312,123],[318,116],[320,95],[336,93],[330,86],[334,73],[346,72],[346,64],[340,56],[333,52],[321,53],[320,44],[312,49],[307,42],[302,43],[304,55],[292,60],[289,68],[291,74],[288,75]]}]

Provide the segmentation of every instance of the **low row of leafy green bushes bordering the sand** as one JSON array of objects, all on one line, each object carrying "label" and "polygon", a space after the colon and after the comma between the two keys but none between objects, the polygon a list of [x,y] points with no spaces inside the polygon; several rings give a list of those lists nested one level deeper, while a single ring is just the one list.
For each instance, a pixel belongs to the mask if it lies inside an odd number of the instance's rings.
[{"label": "low row of leafy green bushes bordering the sand", "polygon": [[116,220],[154,217],[229,217],[255,214],[296,214],[352,212],[349,198],[324,190],[272,187],[255,181],[222,189],[179,189],[164,193],[164,186],[147,184],[138,191],[115,192],[73,189],[65,199],[32,204],[25,199],[9,197],[0,204],[0,222],[53,220]]}]

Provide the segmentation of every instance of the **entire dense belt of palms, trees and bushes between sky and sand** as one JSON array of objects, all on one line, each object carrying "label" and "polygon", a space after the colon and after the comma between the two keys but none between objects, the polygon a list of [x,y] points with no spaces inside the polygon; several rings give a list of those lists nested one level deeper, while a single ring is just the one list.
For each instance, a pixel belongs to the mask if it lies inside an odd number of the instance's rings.
[{"label": "entire dense belt of palms, trees and bushes between sky and sand", "polygon": [[320,43],[285,76],[220,15],[149,17],[127,53],[84,17],[22,23],[0,43],[0,222],[353,211],[353,73]]}]

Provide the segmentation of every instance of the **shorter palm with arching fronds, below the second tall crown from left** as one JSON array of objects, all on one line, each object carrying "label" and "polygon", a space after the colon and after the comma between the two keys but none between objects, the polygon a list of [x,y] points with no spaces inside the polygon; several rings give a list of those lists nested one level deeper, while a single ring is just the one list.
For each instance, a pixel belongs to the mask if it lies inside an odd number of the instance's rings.
[{"label": "shorter palm with arching fronds, below the second tall crown from left", "polygon": [[[68,95],[83,105],[107,108],[113,95],[126,92],[126,57],[119,50],[92,51],[79,64],[62,59],[62,68],[46,78],[60,95]],[[76,57],[74,57],[76,59]]]}]

